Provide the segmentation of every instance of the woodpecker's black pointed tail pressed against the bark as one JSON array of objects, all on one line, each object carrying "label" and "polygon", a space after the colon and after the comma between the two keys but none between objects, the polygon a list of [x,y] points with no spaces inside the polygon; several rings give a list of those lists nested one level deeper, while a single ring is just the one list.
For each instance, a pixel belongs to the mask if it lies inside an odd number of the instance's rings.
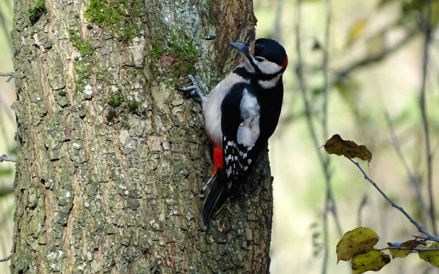
[{"label": "woodpecker's black pointed tail pressed against the bark", "polygon": [[223,176],[218,176],[210,188],[209,195],[203,207],[203,223],[210,229],[210,219],[215,210],[215,207],[223,205],[227,200],[227,191],[224,191],[224,183],[221,180]]}]

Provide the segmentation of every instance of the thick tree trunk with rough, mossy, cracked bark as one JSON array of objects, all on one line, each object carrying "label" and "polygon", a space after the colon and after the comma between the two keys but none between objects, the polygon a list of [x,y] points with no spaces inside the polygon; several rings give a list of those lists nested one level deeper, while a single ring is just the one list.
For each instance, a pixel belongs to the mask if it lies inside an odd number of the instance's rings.
[{"label": "thick tree trunk with rough, mossy, cracked bark", "polygon": [[[268,158],[208,234],[201,107],[254,39],[252,0],[15,0],[11,273],[268,273]],[[182,83],[183,82],[183,83]]]}]

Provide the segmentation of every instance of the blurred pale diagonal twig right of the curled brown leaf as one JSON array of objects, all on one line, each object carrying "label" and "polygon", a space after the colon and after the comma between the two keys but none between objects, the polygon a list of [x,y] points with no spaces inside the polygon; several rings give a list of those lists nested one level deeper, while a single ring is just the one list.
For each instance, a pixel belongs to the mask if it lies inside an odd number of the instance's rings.
[{"label": "blurred pale diagonal twig right of the curled brown leaf", "polygon": [[393,146],[396,149],[396,154],[399,157],[399,160],[404,166],[404,169],[406,170],[407,177],[410,180],[410,183],[413,185],[413,189],[416,192],[417,200],[421,204],[422,211],[428,213],[427,204],[425,203],[424,196],[422,196],[421,192],[421,184],[417,180],[417,178],[414,176],[413,172],[410,170],[410,167],[407,164],[406,159],[404,158],[404,155],[401,151],[401,147],[399,146],[398,138],[395,134],[395,129],[393,128],[392,120],[390,119],[389,113],[385,111],[385,121],[387,123],[387,127],[389,128],[390,132],[390,138],[392,138]]}]

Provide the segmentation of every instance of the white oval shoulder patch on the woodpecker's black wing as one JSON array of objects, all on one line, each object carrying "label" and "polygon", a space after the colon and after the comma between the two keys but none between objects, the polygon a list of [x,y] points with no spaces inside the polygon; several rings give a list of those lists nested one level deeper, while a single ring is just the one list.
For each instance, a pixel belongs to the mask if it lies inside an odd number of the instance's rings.
[{"label": "white oval shoulder patch on the woodpecker's black wing", "polygon": [[255,96],[248,93],[247,89],[242,92],[241,119],[243,120],[238,127],[236,140],[238,144],[252,147],[259,138],[259,104]]}]

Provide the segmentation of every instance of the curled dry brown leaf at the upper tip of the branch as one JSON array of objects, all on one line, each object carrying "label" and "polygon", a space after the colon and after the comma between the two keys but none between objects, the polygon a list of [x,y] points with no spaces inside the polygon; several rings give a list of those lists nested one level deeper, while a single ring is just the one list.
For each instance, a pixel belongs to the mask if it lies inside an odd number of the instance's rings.
[{"label": "curled dry brown leaf at the upper tip of the branch", "polygon": [[343,140],[340,135],[332,135],[331,139],[327,140],[324,148],[327,153],[344,156],[348,159],[360,158],[368,163],[372,160],[372,153],[366,146],[359,146],[353,141]]}]

